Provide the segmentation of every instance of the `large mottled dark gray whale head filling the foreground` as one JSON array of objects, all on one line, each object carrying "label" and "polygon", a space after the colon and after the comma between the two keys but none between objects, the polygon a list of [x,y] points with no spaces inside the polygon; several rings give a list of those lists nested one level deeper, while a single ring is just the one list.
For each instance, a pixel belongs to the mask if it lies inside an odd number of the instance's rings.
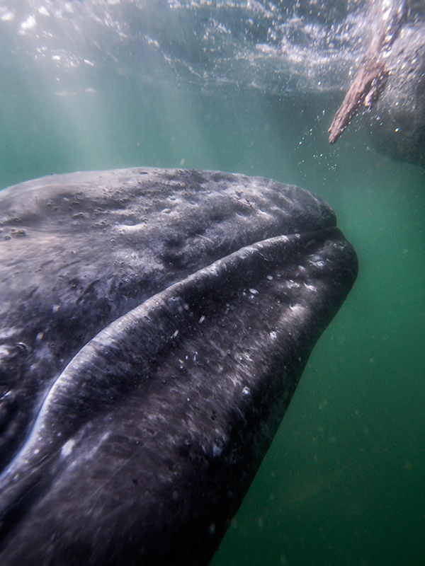
[{"label": "large mottled dark gray whale head filling the foreground", "polygon": [[0,563],[207,565],[356,279],[309,192],[134,168],[0,193]]}]

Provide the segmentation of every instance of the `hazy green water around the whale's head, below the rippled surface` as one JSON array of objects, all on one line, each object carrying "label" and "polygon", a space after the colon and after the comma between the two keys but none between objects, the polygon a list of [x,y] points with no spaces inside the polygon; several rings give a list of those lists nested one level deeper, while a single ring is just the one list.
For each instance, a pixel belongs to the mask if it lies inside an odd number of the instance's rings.
[{"label": "hazy green water around the whale's head, below the rippled surface", "polygon": [[212,565],[424,564],[424,169],[370,149],[362,117],[328,146],[332,100],[191,91],[117,72],[93,91],[81,76],[58,86],[6,63],[0,83],[0,187],[184,166],[296,183],[334,207],[358,281]]}]

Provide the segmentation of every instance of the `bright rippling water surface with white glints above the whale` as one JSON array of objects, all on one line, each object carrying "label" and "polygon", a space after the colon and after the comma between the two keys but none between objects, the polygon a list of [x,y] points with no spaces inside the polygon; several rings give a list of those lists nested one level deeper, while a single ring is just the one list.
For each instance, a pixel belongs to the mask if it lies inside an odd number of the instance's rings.
[{"label": "bright rippling water surface with white glints above the whale", "polygon": [[[6,0],[4,64],[200,88],[343,90],[372,32],[360,0]],[[2,45],[1,45],[2,44]]]}]

